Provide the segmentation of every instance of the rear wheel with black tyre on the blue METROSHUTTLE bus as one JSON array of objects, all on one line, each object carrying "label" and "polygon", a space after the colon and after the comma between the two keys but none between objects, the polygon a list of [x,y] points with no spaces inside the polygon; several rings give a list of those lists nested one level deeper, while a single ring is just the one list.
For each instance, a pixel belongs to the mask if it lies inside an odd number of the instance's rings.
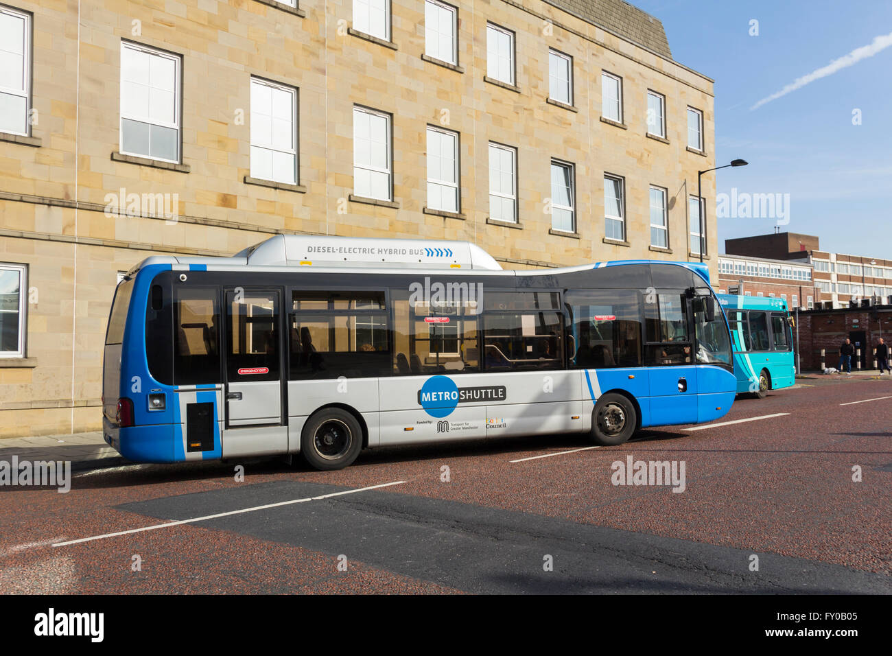
[{"label": "rear wheel with black tyre on the blue METROSHUTTLE bus", "polygon": [[362,427],[350,412],[326,408],[314,414],[301,431],[301,454],[313,469],[343,469],[362,451]]}]

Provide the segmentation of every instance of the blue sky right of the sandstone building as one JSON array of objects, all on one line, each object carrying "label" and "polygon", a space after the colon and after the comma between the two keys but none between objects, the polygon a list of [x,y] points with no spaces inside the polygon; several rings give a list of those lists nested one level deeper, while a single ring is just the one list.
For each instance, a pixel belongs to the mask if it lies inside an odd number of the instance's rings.
[{"label": "blue sky right of the sandstone building", "polygon": [[[782,231],[822,250],[892,259],[892,47],[787,95],[752,106],[875,37],[892,33],[892,2],[631,0],[666,29],[675,61],[715,80],[717,193],[789,194]],[[759,35],[749,35],[757,20]],[[861,125],[852,112],[861,110]],[[707,144],[707,148],[709,145]],[[714,207],[710,206],[710,212]],[[731,237],[777,219],[719,218]]]}]

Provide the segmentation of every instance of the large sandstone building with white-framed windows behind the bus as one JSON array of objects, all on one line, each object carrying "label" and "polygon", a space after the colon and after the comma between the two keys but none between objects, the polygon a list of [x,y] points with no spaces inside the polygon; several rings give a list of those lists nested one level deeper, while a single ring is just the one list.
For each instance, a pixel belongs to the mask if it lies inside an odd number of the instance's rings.
[{"label": "large sandstone building with white-framed windows behind the bus", "polygon": [[0,436],[99,427],[114,287],[153,253],[698,259],[713,80],[622,0],[4,0],[0,34]]}]

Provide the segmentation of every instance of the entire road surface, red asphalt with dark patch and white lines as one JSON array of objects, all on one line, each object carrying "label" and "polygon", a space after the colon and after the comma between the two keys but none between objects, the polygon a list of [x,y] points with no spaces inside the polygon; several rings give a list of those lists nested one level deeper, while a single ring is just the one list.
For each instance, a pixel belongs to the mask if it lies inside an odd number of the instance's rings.
[{"label": "entire road surface, red asphalt with dark patch and white lines", "polygon": [[[453,441],[332,472],[95,461],[67,494],[0,489],[0,590],[892,594],[892,379],[823,378],[615,447]],[[684,490],[617,485],[628,458],[685,463]]]}]

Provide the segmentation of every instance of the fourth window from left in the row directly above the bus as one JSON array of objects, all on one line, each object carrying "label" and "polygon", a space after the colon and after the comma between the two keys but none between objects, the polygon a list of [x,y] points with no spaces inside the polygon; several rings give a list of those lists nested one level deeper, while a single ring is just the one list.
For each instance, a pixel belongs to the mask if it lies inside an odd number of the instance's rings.
[{"label": "fourth window from left in the row directly above the bus", "polygon": [[353,108],[353,192],[392,200],[391,117],[365,107]]}]

